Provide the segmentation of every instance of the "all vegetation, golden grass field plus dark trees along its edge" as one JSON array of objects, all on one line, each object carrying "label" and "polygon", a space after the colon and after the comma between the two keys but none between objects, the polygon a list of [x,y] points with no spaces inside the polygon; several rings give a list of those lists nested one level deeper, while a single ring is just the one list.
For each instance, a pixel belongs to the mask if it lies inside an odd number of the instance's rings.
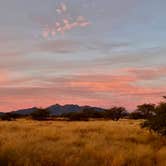
[{"label": "all vegetation, golden grass field plus dark trees along its edge", "polygon": [[165,166],[166,102],[1,115],[0,166]]}]

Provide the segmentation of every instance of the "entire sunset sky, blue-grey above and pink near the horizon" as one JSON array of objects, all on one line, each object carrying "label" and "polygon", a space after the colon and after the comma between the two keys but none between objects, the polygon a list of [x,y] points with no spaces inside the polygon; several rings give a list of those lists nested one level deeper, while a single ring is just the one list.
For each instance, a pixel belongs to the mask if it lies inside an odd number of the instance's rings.
[{"label": "entire sunset sky, blue-grey above and pink near the horizon", "polygon": [[0,0],[0,111],[104,108],[166,95],[165,0]]}]

